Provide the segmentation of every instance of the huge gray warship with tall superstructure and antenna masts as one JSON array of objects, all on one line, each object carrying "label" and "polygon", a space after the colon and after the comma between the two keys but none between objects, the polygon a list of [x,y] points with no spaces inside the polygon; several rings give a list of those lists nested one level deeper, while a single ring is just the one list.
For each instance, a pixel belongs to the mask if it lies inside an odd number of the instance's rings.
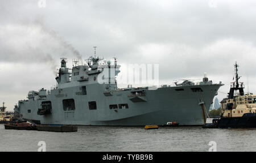
[{"label": "huge gray warship with tall superstructure and antenna masts", "polygon": [[[57,85],[29,91],[14,111],[36,124],[144,126],[176,121],[180,126],[201,126],[218,89],[205,75],[203,81],[185,80],[174,86],[118,88],[115,77],[120,72],[117,60],[100,63],[90,57],[87,64],[69,70],[67,59],[61,58]],[[103,71],[114,72],[99,83]],[[108,75],[105,75],[108,76]],[[114,82],[113,82],[114,80]]]}]

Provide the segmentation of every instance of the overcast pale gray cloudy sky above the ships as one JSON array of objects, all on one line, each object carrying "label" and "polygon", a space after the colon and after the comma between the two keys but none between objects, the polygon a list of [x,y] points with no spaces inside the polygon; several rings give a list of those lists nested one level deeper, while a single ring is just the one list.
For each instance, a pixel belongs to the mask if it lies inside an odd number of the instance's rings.
[{"label": "overcast pale gray cloudy sky above the ships", "polygon": [[[234,62],[256,90],[256,1],[0,1],[0,102],[55,84],[60,57],[159,64],[160,84],[208,73],[229,91]],[[247,91],[247,87],[246,87]],[[220,100],[226,95],[219,93]]]}]

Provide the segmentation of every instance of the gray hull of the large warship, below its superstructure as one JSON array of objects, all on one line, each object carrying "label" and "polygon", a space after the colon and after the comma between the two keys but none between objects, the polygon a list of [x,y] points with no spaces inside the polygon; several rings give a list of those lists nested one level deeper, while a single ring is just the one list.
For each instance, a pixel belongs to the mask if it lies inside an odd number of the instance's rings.
[{"label": "gray hull of the large warship, below its superstructure", "polygon": [[[75,87],[69,85],[52,89],[50,95],[41,100],[19,101],[18,112],[23,119],[38,124],[144,126],[176,121],[179,126],[201,126],[221,84],[107,93],[102,91],[101,84],[90,84],[86,85],[86,95],[81,92],[81,87],[82,84]],[[143,95],[134,94],[134,91],[143,92]],[[74,110],[64,109],[65,99],[74,99]],[[51,101],[51,113],[38,115],[38,109],[45,101]],[[95,102],[96,108],[90,109],[90,101]],[[204,104],[205,110],[201,104]]]}]

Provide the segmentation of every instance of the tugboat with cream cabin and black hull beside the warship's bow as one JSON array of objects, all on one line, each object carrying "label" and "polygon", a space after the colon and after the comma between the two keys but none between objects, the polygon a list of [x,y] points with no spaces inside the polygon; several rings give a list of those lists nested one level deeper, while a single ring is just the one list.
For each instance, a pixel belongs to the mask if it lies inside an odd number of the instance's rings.
[{"label": "tugboat with cream cabin and black hull beside the warship's bow", "polygon": [[[213,119],[212,124],[206,124],[204,128],[253,128],[256,127],[256,95],[245,95],[244,85],[238,80],[237,62],[234,65],[236,81],[230,87],[228,97],[221,101],[221,118]],[[223,111],[224,110],[224,111]]]}]

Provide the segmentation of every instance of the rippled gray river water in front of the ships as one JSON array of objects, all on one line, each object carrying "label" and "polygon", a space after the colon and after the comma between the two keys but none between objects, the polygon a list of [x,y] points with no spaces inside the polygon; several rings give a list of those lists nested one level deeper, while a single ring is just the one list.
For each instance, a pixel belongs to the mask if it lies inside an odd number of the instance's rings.
[{"label": "rippled gray river water in front of the ships", "polygon": [[5,130],[0,124],[0,151],[256,151],[256,128],[210,129],[173,127],[144,130],[143,127],[79,126],[78,132]]}]

